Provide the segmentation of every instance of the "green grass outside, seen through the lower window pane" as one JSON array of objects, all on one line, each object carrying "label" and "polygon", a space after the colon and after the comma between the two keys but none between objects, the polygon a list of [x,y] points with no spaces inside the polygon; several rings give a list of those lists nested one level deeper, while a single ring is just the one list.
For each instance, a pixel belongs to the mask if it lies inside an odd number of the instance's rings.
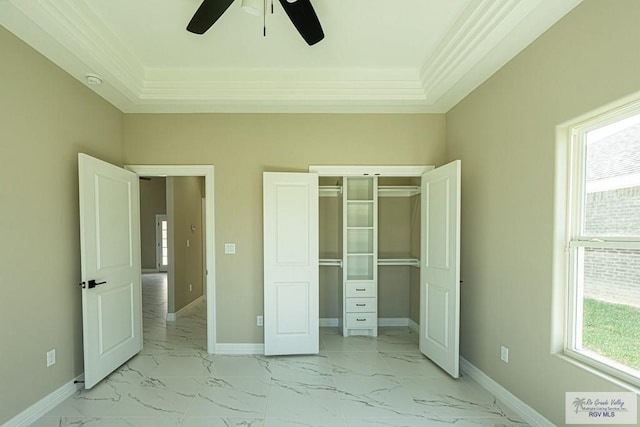
[{"label": "green grass outside, seen through the lower window pane", "polygon": [[584,299],[582,345],[640,370],[640,309]]}]

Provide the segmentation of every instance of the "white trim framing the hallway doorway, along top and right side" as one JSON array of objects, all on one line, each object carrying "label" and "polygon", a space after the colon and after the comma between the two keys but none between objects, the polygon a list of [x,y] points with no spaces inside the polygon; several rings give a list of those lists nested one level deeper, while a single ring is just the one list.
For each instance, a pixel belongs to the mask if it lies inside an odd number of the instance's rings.
[{"label": "white trim framing the hallway doorway, along top and right side", "polygon": [[[206,233],[207,265],[207,352],[216,352],[216,258],[215,258],[215,203],[213,165],[126,165],[125,169],[138,176],[203,176],[207,215],[204,219]],[[171,263],[171,260],[169,260]]]}]

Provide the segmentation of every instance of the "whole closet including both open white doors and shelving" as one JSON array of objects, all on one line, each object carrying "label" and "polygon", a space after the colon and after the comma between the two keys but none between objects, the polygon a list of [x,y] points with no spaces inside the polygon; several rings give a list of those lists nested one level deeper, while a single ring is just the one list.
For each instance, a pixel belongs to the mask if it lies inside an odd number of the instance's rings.
[{"label": "whole closet including both open white doors and shelving", "polygon": [[317,353],[319,326],[408,325],[457,377],[460,176],[459,160],[264,172],[265,355]]}]

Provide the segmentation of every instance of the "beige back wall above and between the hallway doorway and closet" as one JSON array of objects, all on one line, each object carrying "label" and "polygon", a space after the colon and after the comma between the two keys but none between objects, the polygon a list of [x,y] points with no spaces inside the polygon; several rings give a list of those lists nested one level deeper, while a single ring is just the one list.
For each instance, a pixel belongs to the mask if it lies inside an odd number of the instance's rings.
[{"label": "beige back wall above and between the hallway doorway and closet", "polygon": [[444,129],[444,115],[128,114],[125,162],[215,166],[218,342],[261,343],[262,172],[442,164]]}]

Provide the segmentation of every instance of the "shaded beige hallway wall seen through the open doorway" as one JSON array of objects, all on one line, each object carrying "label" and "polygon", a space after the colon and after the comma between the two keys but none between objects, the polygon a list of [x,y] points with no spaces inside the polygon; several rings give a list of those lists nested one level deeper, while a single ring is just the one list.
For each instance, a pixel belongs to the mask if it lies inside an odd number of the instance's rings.
[{"label": "shaded beige hallway wall seen through the open doorway", "polygon": [[173,177],[170,183],[173,187],[174,309],[177,312],[203,295],[204,178]]}]

